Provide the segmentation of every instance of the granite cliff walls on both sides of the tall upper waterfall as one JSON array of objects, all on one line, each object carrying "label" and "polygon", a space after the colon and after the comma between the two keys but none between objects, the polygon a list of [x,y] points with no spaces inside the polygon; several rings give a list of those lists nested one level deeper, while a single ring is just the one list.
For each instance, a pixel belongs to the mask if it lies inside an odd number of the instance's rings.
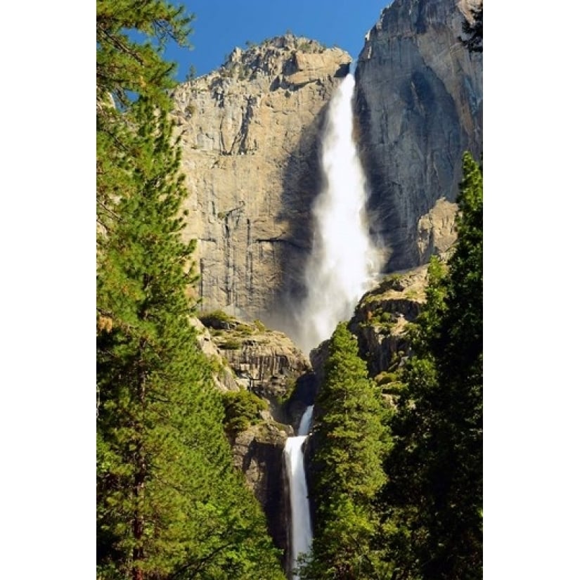
[{"label": "granite cliff walls on both sides of the tall upper waterfall", "polygon": [[[356,138],[385,272],[455,239],[461,153],[482,153],[482,55],[460,42],[470,2],[395,0],[364,40]],[[304,295],[326,105],[351,60],[287,34],[174,91],[202,309],[291,330],[283,311]]]}]

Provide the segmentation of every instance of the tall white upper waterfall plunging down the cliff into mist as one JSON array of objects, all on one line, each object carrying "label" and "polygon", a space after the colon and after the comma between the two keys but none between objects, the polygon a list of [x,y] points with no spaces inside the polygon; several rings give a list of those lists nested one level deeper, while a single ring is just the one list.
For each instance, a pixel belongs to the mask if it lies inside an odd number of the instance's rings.
[{"label": "tall white upper waterfall plunging down the cliff into mist", "polygon": [[314,203],[314,243],[305,271],[307,297],[297,309],[297,342],[304,352],[352,316],[379,267],[368,235],[366,181],[353,139],[354,77],[330,101],[322,142],[326,182]]}]

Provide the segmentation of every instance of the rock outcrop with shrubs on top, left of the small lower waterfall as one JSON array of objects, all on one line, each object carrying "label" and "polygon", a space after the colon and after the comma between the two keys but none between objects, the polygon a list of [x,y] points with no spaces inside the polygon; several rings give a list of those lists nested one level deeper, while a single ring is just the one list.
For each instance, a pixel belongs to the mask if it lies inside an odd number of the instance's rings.
[{"label": "rock outcrop with shrubs on top, left of the small lower waterfall", "polygon": [[283,565],[289,571],[290,512],[283,451],[304,408],[314,401],[314,373],[290,338],[260,321],[245,323],[223,311],[199,316],[191,323],[198,331],[200,348],[214,366],[216,387],[222,392],[247,390],[268,403],[251,422],[227,433],[233,463],[262,505],[269,533],[283,550]]}]

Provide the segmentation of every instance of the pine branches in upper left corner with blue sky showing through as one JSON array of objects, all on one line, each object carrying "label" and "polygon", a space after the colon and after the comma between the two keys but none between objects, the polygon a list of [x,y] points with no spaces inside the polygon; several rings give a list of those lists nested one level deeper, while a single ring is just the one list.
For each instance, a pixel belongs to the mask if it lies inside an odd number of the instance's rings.
[{"label": "pine branches in upper left corner with blue sky showing through", "polygon": [[[125,112],[140,96],[169,110],[176,65],[162,52],[169,41],[189,46],[193,15],[165,0],[97,0],[96,127],[98,247],[117,221],[115,205],[127,192],[134,148]],[[129,167],[128,167],[129,165]]]}]

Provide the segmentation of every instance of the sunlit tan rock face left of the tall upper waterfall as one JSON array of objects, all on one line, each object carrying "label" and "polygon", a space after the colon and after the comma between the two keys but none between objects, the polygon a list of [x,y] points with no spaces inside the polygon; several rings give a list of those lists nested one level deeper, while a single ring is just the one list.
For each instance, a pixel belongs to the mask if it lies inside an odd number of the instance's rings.
[{"label": "sunlit tan rock face left of the tall upper waterfall", "polygon": [[276,318],[300,295],[325,105],[352,58],[286,35],[174,91],[204,309]]}]

